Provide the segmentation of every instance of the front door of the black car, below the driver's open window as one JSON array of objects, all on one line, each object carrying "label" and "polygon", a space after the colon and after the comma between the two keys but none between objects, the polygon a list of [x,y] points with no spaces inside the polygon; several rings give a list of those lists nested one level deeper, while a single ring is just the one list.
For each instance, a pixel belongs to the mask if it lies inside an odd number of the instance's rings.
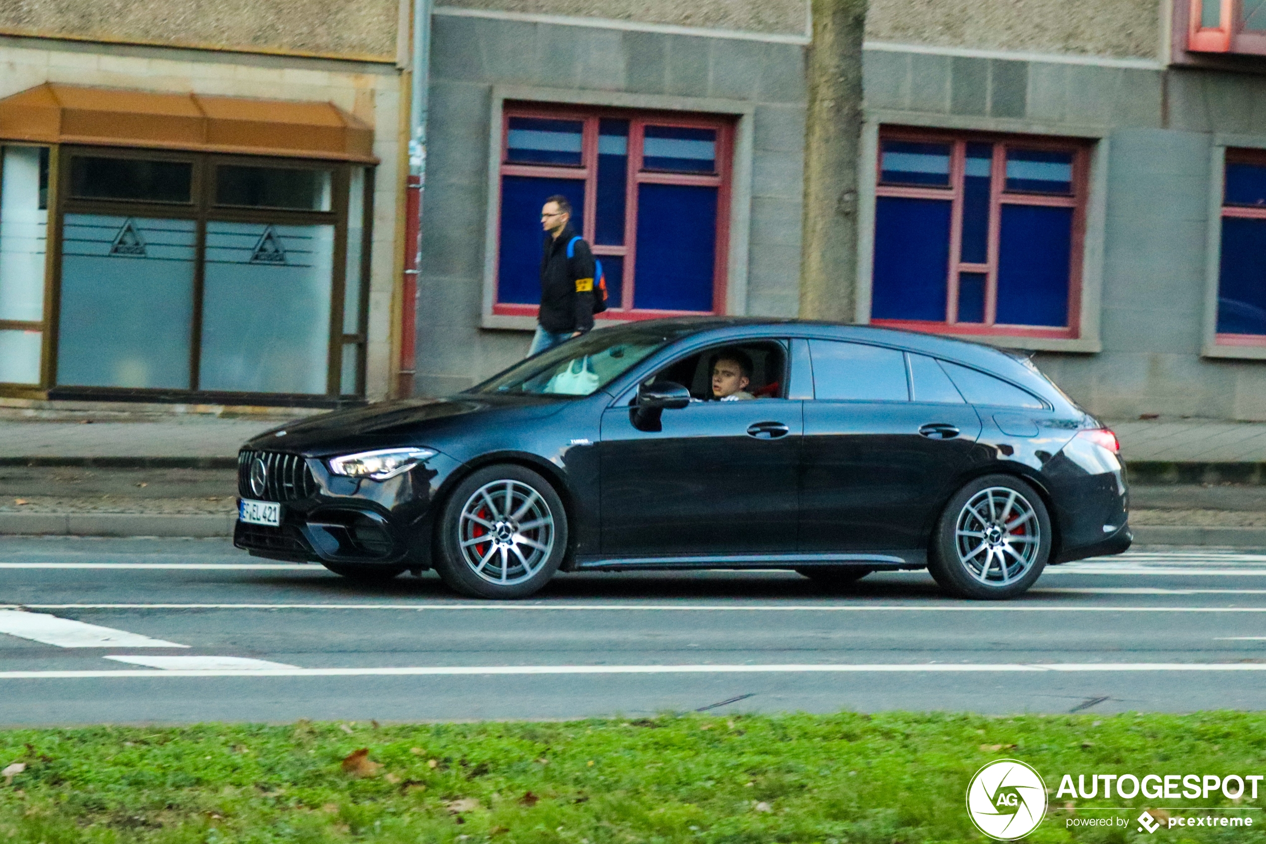
[{"label": "front door of the black car, below the driver's open window", "polygon": [[630,390],[603,415],[603,555],[793,553],[801,404],[694,401],[643,430]]}]

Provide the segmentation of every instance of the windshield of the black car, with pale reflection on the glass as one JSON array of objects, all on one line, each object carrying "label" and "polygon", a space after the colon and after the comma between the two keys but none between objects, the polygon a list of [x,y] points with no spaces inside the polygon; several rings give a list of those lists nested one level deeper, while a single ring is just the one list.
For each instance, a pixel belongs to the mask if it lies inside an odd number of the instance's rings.
[{"label": "windshield of the black car, with pale reflection on the glass", "polygon": [[587,396],[694,326],[619,326],[590,332],[492,376],[470,392]]}]

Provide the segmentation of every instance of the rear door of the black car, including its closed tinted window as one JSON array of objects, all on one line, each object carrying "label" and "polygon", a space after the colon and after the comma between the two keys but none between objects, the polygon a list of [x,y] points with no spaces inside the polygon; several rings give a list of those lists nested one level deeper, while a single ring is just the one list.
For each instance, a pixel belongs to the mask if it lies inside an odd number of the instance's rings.
[{"label": "rear door of the black car, including its closed tinted window", "polygon": [[799,549],[924,547],[980,418],[933,358],[838,340],[809,347]]}]

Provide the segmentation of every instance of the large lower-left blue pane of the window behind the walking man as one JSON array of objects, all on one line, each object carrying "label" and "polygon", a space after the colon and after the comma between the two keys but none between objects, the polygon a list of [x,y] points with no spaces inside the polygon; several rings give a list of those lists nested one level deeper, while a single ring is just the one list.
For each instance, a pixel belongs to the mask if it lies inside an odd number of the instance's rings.
[{"label": "large lower-left blue pane of the window behind the walking man", "polygon": [[562,194],[575,209],[585,208],[585,182],[579,178],[501,177],[500,252],[496,262],[496,300],[503,304],[541,302],[541,206]]}]

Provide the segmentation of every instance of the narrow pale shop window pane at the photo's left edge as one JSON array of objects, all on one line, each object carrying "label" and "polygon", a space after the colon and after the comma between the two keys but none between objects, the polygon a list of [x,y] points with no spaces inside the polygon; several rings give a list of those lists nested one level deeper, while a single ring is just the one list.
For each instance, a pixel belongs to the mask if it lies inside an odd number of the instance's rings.
[{"label": "narrow pale shop window pane at the photo's left edge", "polygon": [[0,383],[39,383],[48,161],[48,147],[0,147]]}]

